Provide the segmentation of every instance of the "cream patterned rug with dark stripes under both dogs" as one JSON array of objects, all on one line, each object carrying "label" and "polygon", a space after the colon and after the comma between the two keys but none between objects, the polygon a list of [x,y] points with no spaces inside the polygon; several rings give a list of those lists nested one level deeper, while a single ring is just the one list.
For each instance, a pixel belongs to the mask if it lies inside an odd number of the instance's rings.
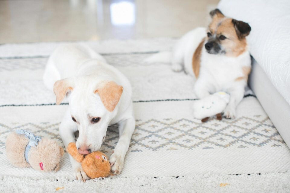
[{"label": "cream patterned rug with dark stripes under both dogs", "polygon": [[[31,130],[62,145],[58,126],[67,108],[55,105],[42,82],[48,55],[60,43],[0,46],[0,190],[100,192],[287,192],[290,151],[250,90],[237,118],[207,123],[192,116],[193,82],[169,65],[143,59],[168,50],[176,40],[86,42],[131,81],[136,130],[120,176],[73,180],[67,153],[56,173],[15,168],[6,159],[5,139]],[[118,140],[109,128],[102,150],[110,156]]]}]

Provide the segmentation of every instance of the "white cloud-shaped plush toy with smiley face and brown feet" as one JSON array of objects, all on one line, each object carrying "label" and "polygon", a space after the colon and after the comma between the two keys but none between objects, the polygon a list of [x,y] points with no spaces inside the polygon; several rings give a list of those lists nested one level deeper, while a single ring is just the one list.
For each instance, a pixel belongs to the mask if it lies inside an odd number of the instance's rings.
[{"label": "white cloud-shaped plush toy with smiley face and brown feet", "polygon": [[209,117],[217,115],[217,119],[221,120],[221,112],[230,101],[230,95],[226,92],[216,92],[203,99],[196,100],[193,105],[193,115],[201,122],[206,122]]}]

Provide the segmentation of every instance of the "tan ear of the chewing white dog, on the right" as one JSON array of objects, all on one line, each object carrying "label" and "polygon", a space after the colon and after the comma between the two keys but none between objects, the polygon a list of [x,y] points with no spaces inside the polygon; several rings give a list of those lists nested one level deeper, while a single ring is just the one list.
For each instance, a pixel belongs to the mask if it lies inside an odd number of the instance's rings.
[{"label": "tan ear of the chewing white dog, on the right", "polygon": [[121,98],[123,87],[114,81],[105,81],[98,85],[94,93],[98,93],[105,108],[112,112]]}]

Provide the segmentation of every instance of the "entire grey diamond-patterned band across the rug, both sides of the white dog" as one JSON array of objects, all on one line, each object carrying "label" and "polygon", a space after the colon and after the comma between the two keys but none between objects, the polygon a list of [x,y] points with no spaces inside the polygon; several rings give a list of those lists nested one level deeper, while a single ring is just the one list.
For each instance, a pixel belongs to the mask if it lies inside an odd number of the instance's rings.
[{"label": "entire grey diamond-patterned band across the rug, both sides of the white dog", "polygon": [[[261,117],[262,118],[262,117]],[[268,117],[240,117],[235,120],[218,121],[210,119],[201,123],[198,119],[150,119],[137,120],[136,129],[132,136],[129,150],[141,152],[144,150],[192,150],[196,148],[247,148],[247,147],[278,147],[285,142]],[[247,123],[245,126],[243,123]],[[62,144],[58,134],[60,123],[41,122],[11,125],[0,123],[1,139],[6,139],[9,132],[15,129],[25,129],[43,137],[49,137]],[[110,126],[101,150],[111,153],[118,142],[118,128]],[[4,148],[4,140],[0,147]]]}]

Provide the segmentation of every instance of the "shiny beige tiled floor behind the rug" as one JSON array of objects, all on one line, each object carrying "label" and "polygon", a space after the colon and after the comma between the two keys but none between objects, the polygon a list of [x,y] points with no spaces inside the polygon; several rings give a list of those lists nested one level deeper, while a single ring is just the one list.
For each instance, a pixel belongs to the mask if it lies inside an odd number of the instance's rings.
[{"label": "shiny beige tiled floor behind the rug", "polygon": [[0,0],[0,43],[179,37],[218,0]]}]

